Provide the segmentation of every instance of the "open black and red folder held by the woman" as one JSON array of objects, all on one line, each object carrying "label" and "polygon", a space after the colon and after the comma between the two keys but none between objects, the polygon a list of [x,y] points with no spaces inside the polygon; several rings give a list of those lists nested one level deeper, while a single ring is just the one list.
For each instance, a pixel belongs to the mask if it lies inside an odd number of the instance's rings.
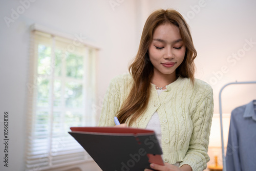
[{"label": "open black and red folder held by the woman", "polygon": [[155,132],[130,127],[71,127],[69,132],[103,171],[132,171],[164,165]]}]

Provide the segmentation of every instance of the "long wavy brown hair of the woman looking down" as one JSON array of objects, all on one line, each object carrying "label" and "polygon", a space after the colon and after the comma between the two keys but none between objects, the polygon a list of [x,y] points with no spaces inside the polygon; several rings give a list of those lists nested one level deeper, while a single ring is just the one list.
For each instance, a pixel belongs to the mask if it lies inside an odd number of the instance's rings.
[{"label": "long wavy brown hair of the woman looking down", "polygon": [[172,9],[160,9],[153,12],[146,20],[138,53],[129,67],[134,82],[132,91],[118,111],[117,118],[120,123],[125,123],[129,118],[129,125],[132,125],[147,107],[151,93],[151,79],[154,72],[154,67],[148,56],[148,47],[152,42],[155,29],[159,25],[166,23],[173,24],[179,28],[181,38],[186,47],[184,60],[176,69],[176,75],[177,77],[190,78],[194,82],[194,59],[197,56],[197,51],[193,45],[193,40],[184,18],[179,12]]}]

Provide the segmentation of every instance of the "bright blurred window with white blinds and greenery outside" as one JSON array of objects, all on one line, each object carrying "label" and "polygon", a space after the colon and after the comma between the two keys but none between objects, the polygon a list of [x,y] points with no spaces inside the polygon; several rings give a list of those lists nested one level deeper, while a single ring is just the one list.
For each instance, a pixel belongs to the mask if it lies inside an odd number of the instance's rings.
[{"label": "bright blurred window with white blinds and greenery outside", "polygon": [[36,29],[31,32],[27,170],[90,159],[68,134],[71,126],[95,126],[92,105],[98,49],[81,40]]}]

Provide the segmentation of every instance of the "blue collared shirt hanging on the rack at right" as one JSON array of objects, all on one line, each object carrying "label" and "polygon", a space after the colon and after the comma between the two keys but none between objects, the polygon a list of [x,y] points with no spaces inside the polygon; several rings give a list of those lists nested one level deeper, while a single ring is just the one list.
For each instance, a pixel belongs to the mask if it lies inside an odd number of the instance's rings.
[{"label": "blue collared shirt hanging on the rack at right", "polygon": [[256,100],[231,112],[226,152],[227,171],[256,170]]}]

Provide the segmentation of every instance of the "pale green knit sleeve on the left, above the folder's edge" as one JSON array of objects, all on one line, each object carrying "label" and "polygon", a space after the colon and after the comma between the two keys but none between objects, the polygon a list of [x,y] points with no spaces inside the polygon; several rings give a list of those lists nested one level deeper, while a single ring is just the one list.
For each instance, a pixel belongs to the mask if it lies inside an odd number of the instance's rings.
[{"label": "pale green knit sleeve on the left, above the folder's edge", "polygon": [[120,88],[115,79],[106,90],[98,126],[114,126],[114,117],[120,107]]}]

